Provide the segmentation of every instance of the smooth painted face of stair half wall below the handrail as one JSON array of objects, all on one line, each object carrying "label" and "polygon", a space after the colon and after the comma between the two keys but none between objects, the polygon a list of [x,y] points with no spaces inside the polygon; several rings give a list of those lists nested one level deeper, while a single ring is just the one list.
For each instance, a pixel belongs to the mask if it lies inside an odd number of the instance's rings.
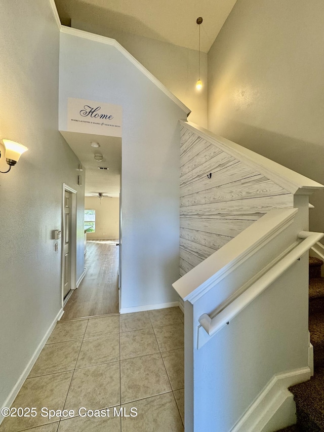
[{"label": "smooth painted face of stair half wall below the handrail", "polygon": [[[308,366],[307,265],[304,255],[194,349],[194,430],[230,431],[275,374]],[[211,309],[215,296],[195,305],[195,319]]]}]

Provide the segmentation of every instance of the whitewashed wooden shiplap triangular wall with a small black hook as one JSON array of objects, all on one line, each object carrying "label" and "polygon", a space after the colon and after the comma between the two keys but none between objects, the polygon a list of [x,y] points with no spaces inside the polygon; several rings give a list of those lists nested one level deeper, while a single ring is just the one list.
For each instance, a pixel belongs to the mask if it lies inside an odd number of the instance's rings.
[{"label": "whitewashed wooden shiplap triangular wall with a small black hook", "polygon": [[185,126],[180,167],[180,276],[265,213],[293,207],[292,193]]}]

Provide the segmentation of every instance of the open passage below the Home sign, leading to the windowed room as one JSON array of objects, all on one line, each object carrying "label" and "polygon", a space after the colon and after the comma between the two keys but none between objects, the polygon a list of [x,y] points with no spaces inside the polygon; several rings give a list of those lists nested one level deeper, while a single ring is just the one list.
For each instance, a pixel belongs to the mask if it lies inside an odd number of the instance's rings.
[{"label": "open passage below the Home sign, leading to the windowed room", "polygon": [[[72,288],[61,321],[119,313],[121,138],[62,135],[85,170],[86,271]],[[83,216],[78,212],[78,218]]]}]

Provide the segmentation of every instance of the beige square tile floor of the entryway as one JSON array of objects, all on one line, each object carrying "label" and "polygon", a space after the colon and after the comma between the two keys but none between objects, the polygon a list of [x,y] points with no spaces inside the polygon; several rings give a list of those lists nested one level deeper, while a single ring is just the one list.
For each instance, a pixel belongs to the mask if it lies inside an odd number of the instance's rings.
[{"label": "beige square tile floor of the entryway", "polygon": [[[183,432],[183,322],[178,307],[59,322],[13,404],[37,416],[8,417],[0,432]],[[43,407],[76,414],[49,419]]]}]

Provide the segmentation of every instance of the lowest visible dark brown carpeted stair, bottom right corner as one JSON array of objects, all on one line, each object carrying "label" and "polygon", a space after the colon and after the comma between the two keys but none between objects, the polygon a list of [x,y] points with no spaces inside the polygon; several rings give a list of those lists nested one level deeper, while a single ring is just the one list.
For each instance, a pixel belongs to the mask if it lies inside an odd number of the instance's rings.
[{"label": "lowest visible dark brown carpeted stair, bottom right corner", "polygon": [[309,381],[294,385],[289,390],[296,402],[298,423],[303,419],[301,430],[324,430],[324,368],[318,368]]}]

